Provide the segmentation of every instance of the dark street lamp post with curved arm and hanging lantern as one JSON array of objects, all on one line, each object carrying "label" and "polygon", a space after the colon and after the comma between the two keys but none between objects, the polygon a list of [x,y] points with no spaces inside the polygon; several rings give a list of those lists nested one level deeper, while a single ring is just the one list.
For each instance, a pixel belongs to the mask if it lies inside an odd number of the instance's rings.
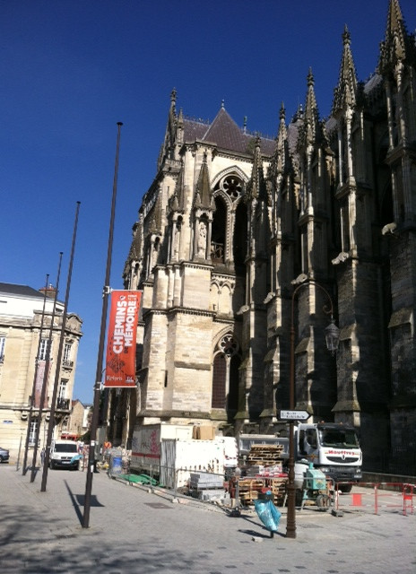
[{"label": "dark street lamp post with curved arm and hanging lantern", "polygon": [[[339,342],[339,329],[334,324],[334,305],[333,301],[320,283],[317,283],[315,279],[309,279],[305,275],[299,275],[300,281],[305,283],[300,283],[294,290],[291,296],[291,319],[290,319],[290,396],[289,404],[290,410],[295,408],[295,321],[294,321],[294,309],[295,309],[295,297],[297,292],[301,287],[305,287],[308,283],[314,283],[316,287],[319,287],[325,292],[325,295],[330,303],[330,309],[324,307],[324,312],[326,314],[331,314],[331,323],[325,328],[325,341],[328,351],[334,352],[338,348]],[[295,280],[292,283],[299,283]],[[295,428],[294,421],[289,423],[289,474],[288,474],[288,515],[286,522],[286,538],[296,538],[296,509],[295,509]]]}]

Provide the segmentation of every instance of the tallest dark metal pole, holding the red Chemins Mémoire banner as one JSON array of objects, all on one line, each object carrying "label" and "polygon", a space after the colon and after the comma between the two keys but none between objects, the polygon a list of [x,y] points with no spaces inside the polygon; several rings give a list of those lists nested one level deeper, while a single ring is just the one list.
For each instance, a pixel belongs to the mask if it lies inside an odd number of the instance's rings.
[{"label": "tallest dark metal pole, holding the red Chemins M\u00e9moire banner", "polygon": [[106,277],[104,282],[104,289],[102,293],[102,311],[101,311],[101,325],[100,325],[100,342],[99,351],[97,356],[97,370],[94,385],[94,401],[92,407],[92,419],[90,429],[90,450],[88,453],[87,465],[87,479],[85,483],[85,497],[83,503],[83,519],[82,528],[90,527],[90,509],[91,509],[91,489],[92,489],[92,476],[94,472],[94,456],[95,456],[95,442],[97,436],[97,427],[99,422],[100,411],[100,387],[102,378],[102,361],[104,358],[104,342],[106,338],[106,324],[107,324],[107,309],[108,309],[108,292],[109,292],[109,279],[111,271],[111,254],[113,248],[113,230],[114,220],[116,215],[116,198],[117,198],[117,172],[118,172],[118,152],[120,148],[120,128],[123,126],[121,122],[117,122],[117,149],[116,149],[116,164],[114,169],[113,180],[113,196],[111,201],[111,215],[108,230],[108,249],[107,249],[107,267]]}]

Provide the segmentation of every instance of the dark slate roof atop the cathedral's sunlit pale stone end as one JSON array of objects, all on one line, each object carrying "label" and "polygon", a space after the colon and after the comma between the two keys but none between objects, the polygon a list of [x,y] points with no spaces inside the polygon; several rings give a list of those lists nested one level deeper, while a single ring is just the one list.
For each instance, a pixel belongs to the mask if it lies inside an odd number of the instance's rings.
[{"label": "dark slate roof atop the cathedral's sunlit pale stone end", "polygon": [[[187,143],[195,142],[195,140],[215,143],[223,150],[249,155],[254,152],[256,141],[256,136],[247,134],[241,127],[238,127],[224,108],[220,109],[212,123],[185,118],[184,135]],[[261,138],[260,149],[263,155],[272,156],[275,147],[274,140]]]}]

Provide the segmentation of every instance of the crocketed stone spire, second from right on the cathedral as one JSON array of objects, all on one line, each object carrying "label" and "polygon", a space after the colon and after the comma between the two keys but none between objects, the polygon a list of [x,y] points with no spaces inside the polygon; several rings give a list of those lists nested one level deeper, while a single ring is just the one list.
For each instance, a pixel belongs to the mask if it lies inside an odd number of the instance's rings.
[{"label": "crocketed stone spire, second from right on the cathedral", "polygon": [[342,43],[340,76],[334,90],[334,114],[346,107],[353,108],[357,103],[357,73],[351,53],[351,35],[346,24],[342,34]]}]

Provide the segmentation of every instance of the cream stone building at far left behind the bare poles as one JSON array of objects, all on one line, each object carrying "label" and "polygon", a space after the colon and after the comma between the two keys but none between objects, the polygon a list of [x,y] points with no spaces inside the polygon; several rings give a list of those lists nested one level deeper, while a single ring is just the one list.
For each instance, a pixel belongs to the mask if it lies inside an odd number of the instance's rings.
[{"label": "cream stone building at far left behind the bare poles", "polygon": [[[54,315],[54,298],[53,287],[48,287],[45,297],[45,289],[37,291],[27,285],[0,283],[0,445],[10,450],[11,460],[19,452],[22,457],[29,423],[29,448],[33,448],[37,433],[39,448],[46,443],[65,309],[64,303],[57,300]],[[62,425],[71,413],[81,327],[80,317],[66,314],[54,438],[60,437]],[[45,380],[45,401],[41,404]]]}]

